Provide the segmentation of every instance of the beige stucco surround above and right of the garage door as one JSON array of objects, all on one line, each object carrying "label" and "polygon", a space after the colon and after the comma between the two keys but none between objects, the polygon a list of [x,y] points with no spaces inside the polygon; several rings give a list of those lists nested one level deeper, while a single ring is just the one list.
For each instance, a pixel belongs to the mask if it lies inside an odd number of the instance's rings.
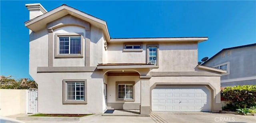
[{"label": "beige stucco surround above and right of the garage door", "polygon": [[161,76],[150,79],[150,90],[156,85],[206,85],[210,88],[211,111],[221,111],[220,76]]}]

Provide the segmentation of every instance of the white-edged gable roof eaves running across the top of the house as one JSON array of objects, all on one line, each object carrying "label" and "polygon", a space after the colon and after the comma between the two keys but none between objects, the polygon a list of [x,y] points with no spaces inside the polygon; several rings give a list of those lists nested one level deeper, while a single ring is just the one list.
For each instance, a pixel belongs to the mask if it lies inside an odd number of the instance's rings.
[{"label": "white-edged gable roof eaves running across the top of the house", "polygon": [[25,22],[25,26],[30,30],[37,32],[46,27],[46,24],[62,18],[66,15],[72,15],[76,18],[80,18],[90,24],[103,30],[104,37],[107,42],[203,42],[208,40],[208,37],[177,37],[177,38],[110,38],[106,21],[94,17],[90,14],[72,8],[66,4],[54,8],[53,10],[46,12],[36,18]]}]

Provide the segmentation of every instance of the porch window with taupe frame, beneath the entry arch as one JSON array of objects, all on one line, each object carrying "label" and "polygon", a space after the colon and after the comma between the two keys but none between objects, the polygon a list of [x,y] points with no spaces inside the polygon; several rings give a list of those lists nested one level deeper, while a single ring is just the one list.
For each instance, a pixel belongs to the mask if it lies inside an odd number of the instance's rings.
[{"label": "porch window with taupe frame, beneath the entry arch", "polygon": [[116,101],[135,101],[134,85],[134,81],[116,82]]}]

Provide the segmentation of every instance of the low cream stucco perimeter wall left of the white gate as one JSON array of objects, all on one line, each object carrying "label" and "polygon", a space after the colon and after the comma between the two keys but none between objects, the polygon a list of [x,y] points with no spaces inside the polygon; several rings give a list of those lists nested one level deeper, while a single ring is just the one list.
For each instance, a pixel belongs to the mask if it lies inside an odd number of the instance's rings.
[{"label": "low cream stucco perimeter wall left of the white gate", "polygon": [[0,115],[26,113],[26,89],[0,89]]}]

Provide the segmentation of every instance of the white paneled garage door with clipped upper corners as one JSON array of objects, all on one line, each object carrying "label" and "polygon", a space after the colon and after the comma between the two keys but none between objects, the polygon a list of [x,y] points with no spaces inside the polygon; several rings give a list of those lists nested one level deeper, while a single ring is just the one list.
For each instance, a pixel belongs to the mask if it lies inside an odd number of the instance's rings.
[{"label": "white paneled garage door with clipped upper corners", "polygon": [[210,91],[205,86],[156,86],[152,111],[210,111]]}]

